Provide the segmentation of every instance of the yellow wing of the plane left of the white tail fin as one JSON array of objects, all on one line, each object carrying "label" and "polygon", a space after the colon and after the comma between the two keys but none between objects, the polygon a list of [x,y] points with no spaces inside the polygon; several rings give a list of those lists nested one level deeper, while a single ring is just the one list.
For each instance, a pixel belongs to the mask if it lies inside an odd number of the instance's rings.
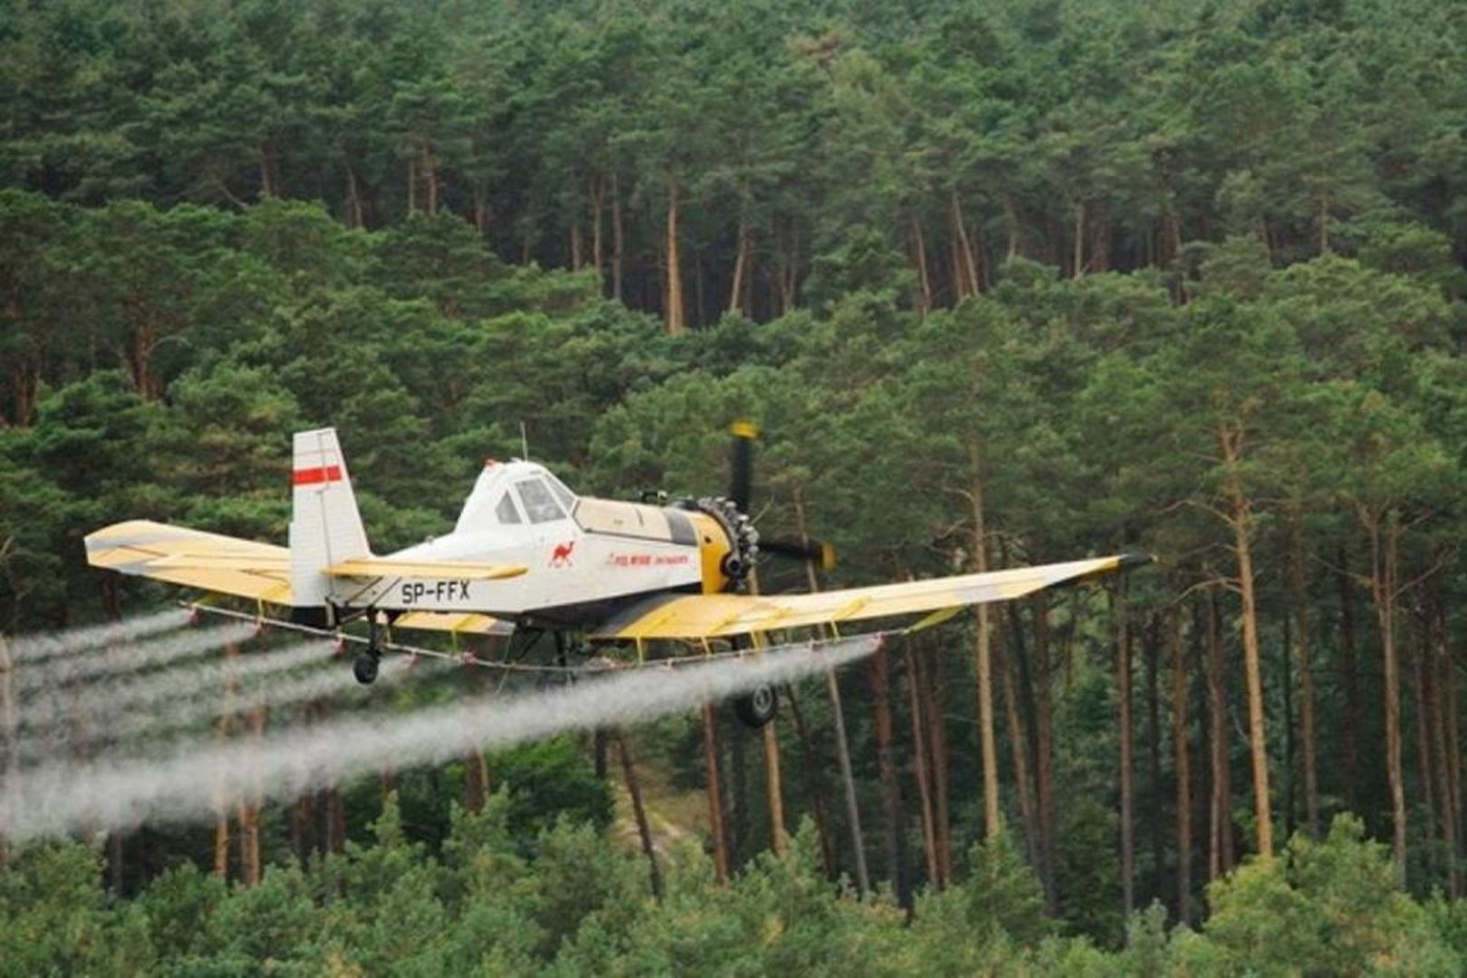
[{"label": "yellow wing of the plane left of the white tail fin", "polygon": [[87,563],[268,604],[290,604],[290,551],[133,519],[87,537]]}]

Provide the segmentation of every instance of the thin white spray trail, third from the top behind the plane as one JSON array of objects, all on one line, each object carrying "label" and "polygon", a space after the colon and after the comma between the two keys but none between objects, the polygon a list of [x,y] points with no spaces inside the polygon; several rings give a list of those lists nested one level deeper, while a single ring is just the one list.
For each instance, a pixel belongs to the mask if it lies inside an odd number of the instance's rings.
[{"label": "thin white spray trail, third from the top behind the plane", "polygon": [[[125,710],[169,707],[201,694],[217,710],[226,683],[323,663],[332,658],[333,650],[332,642],[312,639],[268,652],[245,652],[223,661],[166,669],[132,679],[103,679],[81,688],[53,686],[21,705],[19,727],[35,730],[76,720],[100,721]],[[345,666],[342,672],[351,676]]]}]

